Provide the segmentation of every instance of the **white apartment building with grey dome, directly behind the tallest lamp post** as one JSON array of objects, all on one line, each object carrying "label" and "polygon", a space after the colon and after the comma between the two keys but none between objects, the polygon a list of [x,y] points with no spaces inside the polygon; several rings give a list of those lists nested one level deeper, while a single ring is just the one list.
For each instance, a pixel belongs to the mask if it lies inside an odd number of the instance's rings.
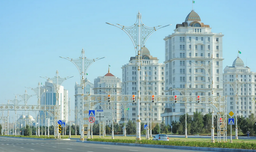
[{"label": "white apartment building with grey dome, directly behind the tallest lamp post", "polygon": [[[164,64],[158,63],[158,59],[150,55],[149,50],[144,47],[142,52],[142,62],[140,70],[140,94],[141,95],[164,95]],[[138,64],[136,57],[131,57],[128,64],[122,66],[122,94],[136,95],[138,94]],[[164,112],[164,104],[152,103],[152,121],[162,122],[160,114]],[[137,116],[137,104],[129,103],[127,112],[128,120],[135,121]],[[140,120],[144,123],[147,122],[147,106],[146,103],[140,103]],[[149,108],[151,110],[151,108]],[[122,106],[122,120],[124,120],[124,107]],[[150,115],[149,115],[150,118]]]}]

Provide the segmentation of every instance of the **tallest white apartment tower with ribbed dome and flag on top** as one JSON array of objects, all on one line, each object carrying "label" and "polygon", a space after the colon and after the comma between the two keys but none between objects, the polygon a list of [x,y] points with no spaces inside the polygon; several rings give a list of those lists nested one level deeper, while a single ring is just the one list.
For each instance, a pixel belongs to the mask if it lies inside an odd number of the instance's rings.
[{"label": "tallest white apartment tower with ribbed dome and flag on top", "polygon": [[[201,22],[200,16],[192,10],[185,22],[176,24],[174,33],[164,38],[166,95],[179,96],[179,91],[186,87],[186,95],[222,96],[224,35],[213,33],[211,30],[212,28]],[[201,65],[206,65],[207,71]],[[161,116],[166,125],[171,125],[172,121],[179,121],[180,115],[185,114],[184,104],[167,104],[165,108],[165,113]],[[196,111],[207,114],[211,109],[205,104],[188,104],[187,112],[190,116]]]}]

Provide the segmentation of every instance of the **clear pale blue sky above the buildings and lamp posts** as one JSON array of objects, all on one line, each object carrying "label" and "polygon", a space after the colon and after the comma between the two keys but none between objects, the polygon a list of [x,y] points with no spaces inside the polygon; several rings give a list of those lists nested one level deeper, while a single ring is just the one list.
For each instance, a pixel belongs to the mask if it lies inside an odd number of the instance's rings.
[{"label": "clear pale blue sky above the buildings and lamp posts", "polygon": [[[224,34],[223,68],[232,66],[238,50],[251,71],[256,37],[256,1],[195,0],[194,10],[212,32]],[[63,83],[74,108],[74,84],[80,81],[76,67],[59,56],[78,58],[82,48],[87,58],[100,58],[88,69],[88,80],[110,72],[122,78],[121,67],[135,56],[130,38],[110,26],[131,26],[138,11],[146,26],[168,25],[156,31],[146,42],[150,54],[164,62],[165,36],[173,33],[176,24],[184,22],[192,10],[192,0],[2,0],[0,1],[0,103],[24,94],[25,87],[37,87],[45,79],[75,76]],[[246,62],[247,60],[247,62]],[[27,90],[28,94],[33,94]],[[6,100],[7,99],[7,100]],[[28,104],[36,104],[32,97]],[[7,114],[7,112],[5,112]]]}]

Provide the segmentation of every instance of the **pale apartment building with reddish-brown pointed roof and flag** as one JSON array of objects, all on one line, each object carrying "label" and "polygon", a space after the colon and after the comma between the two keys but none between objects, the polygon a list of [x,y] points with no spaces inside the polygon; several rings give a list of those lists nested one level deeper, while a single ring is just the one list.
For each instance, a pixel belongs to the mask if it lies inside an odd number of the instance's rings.
[{"label": "pale apartment building with reddish-brown pointed roof and flag", "polygon": [[[120,95],[122,91],[121,86],[121,79],[114,76],[110,73],[109,67],[108,67],[108,73],[104,76],[98,76],[98,78],[94,79],[94,94],[112,94],[114,95]],[[111,110],[111,102],[101,104],[100,106],[97,106],[96,109],[108,109]],[[114,103],[114,122],[119,123],[121,120],[121,104],[120,103]],[[96,122],[98,123],[98,121]],[[110,124],[111,121],[106,121],[106,124]]]}]

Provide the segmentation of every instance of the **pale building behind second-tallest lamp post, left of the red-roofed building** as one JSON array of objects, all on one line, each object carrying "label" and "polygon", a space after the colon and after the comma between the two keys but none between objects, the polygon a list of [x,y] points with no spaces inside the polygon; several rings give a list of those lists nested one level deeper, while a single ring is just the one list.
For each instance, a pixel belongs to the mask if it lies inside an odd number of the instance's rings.
[{"label": "pale building behind second-tallest lamp post, left of the red-roofed building", "polygon": [[[94,85],[86,78],[84,84],[84,96],[94,94]],[[82,86],[76,82],[75,84],[75,123],[80,124],[82,120]]]}]

